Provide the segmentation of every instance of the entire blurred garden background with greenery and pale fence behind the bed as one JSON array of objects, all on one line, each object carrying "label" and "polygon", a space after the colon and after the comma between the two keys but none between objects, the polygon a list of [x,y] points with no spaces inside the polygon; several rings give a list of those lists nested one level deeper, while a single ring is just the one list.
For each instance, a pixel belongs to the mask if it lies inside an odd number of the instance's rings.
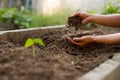
[{"label": "entire blurred garden background with greenery and pale fence behind the bed", "polygon": [[64,25],[78,11],[120,13],[120,0],[0,0],[0,30]]}]

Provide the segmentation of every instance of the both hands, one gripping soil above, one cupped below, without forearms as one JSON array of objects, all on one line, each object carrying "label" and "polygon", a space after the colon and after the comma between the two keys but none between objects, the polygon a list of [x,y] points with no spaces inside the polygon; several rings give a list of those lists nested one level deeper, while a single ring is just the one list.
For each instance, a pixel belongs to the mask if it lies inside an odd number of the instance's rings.
[{"label": "both hands, one gripping soil above, one cupped below, without forearms", "polygon": [[[73,16],[79,16],[83,18],[82,24],[87,24],[89,22],[92,22],[92,19],[94,18],[94,15],[91,15],[89,13],[75,13],[73,14]],[[70,42],[81,47],[93,43],[94,38],[95,36],[83,36],[83,37],[74,37],[74,38],[67,37],[67,39]]]}]

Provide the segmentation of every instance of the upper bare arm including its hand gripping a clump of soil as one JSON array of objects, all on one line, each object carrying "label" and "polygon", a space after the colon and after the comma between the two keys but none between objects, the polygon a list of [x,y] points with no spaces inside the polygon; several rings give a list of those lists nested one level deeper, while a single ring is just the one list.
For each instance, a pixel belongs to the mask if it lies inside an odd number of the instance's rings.
[{"label": "upper bare arm including its hand gripping a clump of soil", "polygon": [[83,18],[82,24],[97,23],[105,26],[120,27],[120,14],[98,15],[85,12],[75,13],[73,16]]}]

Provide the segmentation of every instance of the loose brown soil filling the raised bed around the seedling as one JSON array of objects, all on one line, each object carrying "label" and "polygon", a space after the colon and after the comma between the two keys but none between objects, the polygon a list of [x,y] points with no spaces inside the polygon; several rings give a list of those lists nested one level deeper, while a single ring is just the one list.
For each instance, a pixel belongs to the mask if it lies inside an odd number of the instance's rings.
[{"label": "loose brown soil filling the raised bed around the seedling", "polygon": [[[90,44],[78,47],[65,36],[69,34],[101,35],[102,31],[78,31],[73,29],[46,29],[19,32],[2,36],[0,41],[1,80],[75,80],[86,72],[112,58],[120,51],[119,45]],[[6,37],[6,38],[3,38]],[[27,38],[41,38],[45,47],[24,48]]]}]

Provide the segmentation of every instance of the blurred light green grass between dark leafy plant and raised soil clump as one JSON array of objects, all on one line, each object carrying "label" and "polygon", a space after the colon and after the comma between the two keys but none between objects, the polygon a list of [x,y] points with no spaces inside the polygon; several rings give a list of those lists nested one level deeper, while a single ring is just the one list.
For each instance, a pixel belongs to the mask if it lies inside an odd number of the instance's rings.
[{"label": "blurred light green grass between dark leafy plant and raised soil clump", "polygon": [[31,26],[32,27],[43,27],[43,26],[54,26],[54,25],[63,25],[66,24],[66,20],[68,16],[70,16],[72,12],[68,10],[60,10],[55,12],[52,15],[43,15],[34,14],[32,16],[33,21]]}]

